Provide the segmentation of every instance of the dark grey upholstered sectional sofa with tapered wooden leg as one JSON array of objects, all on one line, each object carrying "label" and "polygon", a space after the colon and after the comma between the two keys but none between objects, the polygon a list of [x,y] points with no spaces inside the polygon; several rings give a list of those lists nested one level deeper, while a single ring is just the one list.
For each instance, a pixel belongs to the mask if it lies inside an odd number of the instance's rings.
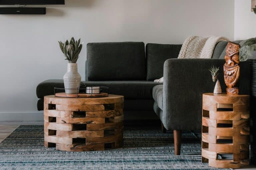
[{"label": "dark grey upholstered sectional sofa with tapered wooden leg", "polygon": [[[219,80],[225,89],[221,77],[226,45],[219,42],[212,59],[177,59],[181,44],[148,43],[145,49],[143,42],[88,43],[84,83],[107,86],[110,94],[124,96],[125,119],[156,119],[155,111],[163,131],[174,130],[178,155],[181,130],[201,129],[202,94],[212,92],[215,85],[208,72],[212,65],[220,67]],[[240,94],[251,91],[254,98],[256,79],[250,77],[254,76],[250,69],[256,70],[256,62],[245,61],[240,66]],[[153,82],[162,76],[163,83]],[[54,94],[56,86],[63,86],[63,80],[46,80],[37,86],[38,110],[43,110],[43,97]]]}]

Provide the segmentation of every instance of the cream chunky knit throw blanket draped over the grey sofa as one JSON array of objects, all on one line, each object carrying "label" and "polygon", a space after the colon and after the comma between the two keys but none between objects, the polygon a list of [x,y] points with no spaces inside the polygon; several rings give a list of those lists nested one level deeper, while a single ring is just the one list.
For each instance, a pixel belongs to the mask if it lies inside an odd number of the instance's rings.
[{"label": "cream chunky knit throw blanket draped over the grey sofa", "polygon": [[[229,41],[229,39],[214,36],[189,36],[183,43],[178,58],[212,58],[216,44],[221,41]],[[163,77],[154,82],[163,82]]]}]

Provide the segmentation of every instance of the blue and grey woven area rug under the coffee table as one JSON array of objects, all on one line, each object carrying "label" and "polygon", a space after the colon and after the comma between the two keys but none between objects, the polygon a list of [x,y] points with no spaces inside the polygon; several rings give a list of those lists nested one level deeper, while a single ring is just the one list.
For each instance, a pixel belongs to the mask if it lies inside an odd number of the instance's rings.
[{"label": "blue and grey woven area rug under the coffee table", "polygon": [[[173,133],[159,128],[124,130],[124,146],[91,152],[45,148],[43,126],[19,126],[0,143],[0,169],[211,170],[201,163],[201,142],[182,134],[181,155],[174,155]],[[223,170],[223,169],[222,169]]]}]

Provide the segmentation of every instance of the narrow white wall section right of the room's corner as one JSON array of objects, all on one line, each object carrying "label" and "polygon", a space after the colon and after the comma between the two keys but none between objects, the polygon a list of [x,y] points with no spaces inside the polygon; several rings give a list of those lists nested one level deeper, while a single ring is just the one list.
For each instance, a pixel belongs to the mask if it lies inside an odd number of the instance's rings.
[{"label": "narrow white wall section right of the room's corner", "polygon": [[256,14],[251,12],[251,0],[235,0],[235,40],[256,37]]}]

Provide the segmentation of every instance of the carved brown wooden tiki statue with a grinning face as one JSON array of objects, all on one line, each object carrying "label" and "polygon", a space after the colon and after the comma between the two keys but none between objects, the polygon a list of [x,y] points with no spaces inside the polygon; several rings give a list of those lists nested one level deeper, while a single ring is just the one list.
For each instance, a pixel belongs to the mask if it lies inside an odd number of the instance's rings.
[{"label": "carved brown wooden tiki statue with a grinning face", "polygon": [[239,44],[228,42],[225,55],[226,62],[224,64],[224,80],[228,95],[238,95],[239,93],[239,89],[236,85],[240,74],[239,48]]}]

